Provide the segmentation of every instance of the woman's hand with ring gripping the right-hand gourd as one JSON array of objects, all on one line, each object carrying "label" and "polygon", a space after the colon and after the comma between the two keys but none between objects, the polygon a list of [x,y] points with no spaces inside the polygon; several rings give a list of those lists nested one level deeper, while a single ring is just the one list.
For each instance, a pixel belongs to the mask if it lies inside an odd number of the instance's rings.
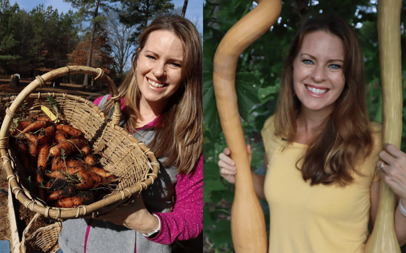
[{"label": "woman's hand with ring gripping the right-hand gourd", "polygon": [[392,144],[384,144],[377,166],[381,178],[396,195],[406,199],[406,154]]}]

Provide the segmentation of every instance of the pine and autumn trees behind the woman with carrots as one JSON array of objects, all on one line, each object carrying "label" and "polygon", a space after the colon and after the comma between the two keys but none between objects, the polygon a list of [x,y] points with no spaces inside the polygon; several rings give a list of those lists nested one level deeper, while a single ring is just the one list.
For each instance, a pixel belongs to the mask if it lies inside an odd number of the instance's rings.
[{"label": "pine and autumn trees behind the woman with carrots", "polygon": [[[73,8],[62,12],[43,4],[25,10],[11,2],[0,0],[0,75],[31,78],[66,65],[86,66],[89,61],[116,85],[129,70],[138,35],[148,22],[165,13],[181,15],[184,9],[184,0],[64,0]],[[201,15],[200,0],[185,2],[189,9],[199,3]],[[199,16],[189,19],[202,32]],[[62,78],[59,81],[82,82],[84,88],[93,85],[92,79],[84,82],[83,75]]]}]

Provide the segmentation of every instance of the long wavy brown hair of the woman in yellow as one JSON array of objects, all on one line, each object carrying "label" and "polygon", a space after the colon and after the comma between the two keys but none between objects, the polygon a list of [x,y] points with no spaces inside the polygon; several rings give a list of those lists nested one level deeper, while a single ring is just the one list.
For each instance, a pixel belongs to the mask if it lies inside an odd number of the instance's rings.
[{"label": "long wavy brown hair of the woman in yellow", "polygon": [[345,87],[324,122],[324,130],[310,143],[302,157],[300,170],[305,181],[311,180],[311,185],[337,183],[345,186],[354,180],[352,172],[356,172],[358,162],[370,154],[374,140],[365,102],[362,49],[357,35],[343,19],[320,15],[309,19],[296,33],[284,66],[275,113],[275,134],[286,137],[288,143],[295,139],[301,103],[293,91],[293,61],[301,49],[304,36],[313,31],[329,32],[342,39]]}]

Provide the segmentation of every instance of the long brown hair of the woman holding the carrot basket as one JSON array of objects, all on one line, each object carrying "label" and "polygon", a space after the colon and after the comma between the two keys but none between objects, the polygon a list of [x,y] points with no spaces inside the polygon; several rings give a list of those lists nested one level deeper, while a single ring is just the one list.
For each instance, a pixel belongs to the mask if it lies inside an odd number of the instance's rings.
[{"label": "long brown hair of the woman holding the carrot basket", "polygon": [[[145,47],[151,32],[166,30],[180,38],[183,45],[182,85],[168,100],[154,128],[155,138],[149,146],[157,157],[165,156],[163,166],[177,166],[178,173],[194,172],[203,149],[202,132],[202,44],[196,27],[181,16],[164,15],[154,19],[140,34],[139,51]],[[139,52],[132,58],[132,66],[119,87],[124,94],[123,114],[127,129],[136,129],[140,115],[141,92],[134,73]],[[112,108],[112,102],[106,111]]]}]

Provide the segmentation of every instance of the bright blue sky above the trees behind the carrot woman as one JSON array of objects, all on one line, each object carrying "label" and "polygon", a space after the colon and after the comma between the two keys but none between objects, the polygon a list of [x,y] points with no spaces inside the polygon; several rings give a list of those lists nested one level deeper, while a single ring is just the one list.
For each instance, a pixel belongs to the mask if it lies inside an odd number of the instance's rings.
[{"label": "bright blue sky above the trees behind the carrot woman", "polygon": [[[20,9],[24,9],[27,12],[30,12],[40,4],[43,4],[45,8],[51,5],[53,9],[58,9],[59,14],[73,9],[69,3],[65,3],[62,0],[10,0],[10,5],[14,5],[16,2]],[[183,7],[183,2],[184,0],[172,0],[175,8]],[[200,25],[196,25],[196,27],[200,33],[203,33],[203,0],[189,0],[185,17],[193,23],[198,20]]]}]

